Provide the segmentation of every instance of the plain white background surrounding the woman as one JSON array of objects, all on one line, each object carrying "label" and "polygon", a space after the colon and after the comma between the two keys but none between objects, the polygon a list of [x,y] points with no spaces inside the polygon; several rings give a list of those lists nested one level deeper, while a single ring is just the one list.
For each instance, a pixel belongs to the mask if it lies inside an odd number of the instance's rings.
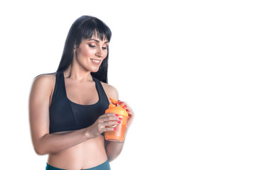
[{"label": "plain white background surrounding the woman", "polygon": [[253,1],[0,2],[1,167],[45,169],[31,143],[33,78],[55,72],[70,26],[112,30],[109,84],[136,113],[112,169],[256,169]]}]

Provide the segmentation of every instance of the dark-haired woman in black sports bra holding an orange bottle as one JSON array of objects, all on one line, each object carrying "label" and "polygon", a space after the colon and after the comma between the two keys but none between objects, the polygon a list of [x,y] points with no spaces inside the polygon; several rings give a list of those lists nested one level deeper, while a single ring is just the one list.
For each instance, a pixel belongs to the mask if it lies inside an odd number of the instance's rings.
[{"label": "dark-haired woman in black sports bra holding an orange bottle", "polygon": [[[117,90],[107,84],[111,34],[99,19],[81,16],[69,30],[57,72],[33,82],[31,137],[36,153],[48,154],[47,170],[108,170],[122,151],[124,142],[104,138],[104,132],[115,130],[109,127],[122,122],[114,113],[105,114],[109,98],[118,100]],[[128,129],[134,113],[123,103]]]}]

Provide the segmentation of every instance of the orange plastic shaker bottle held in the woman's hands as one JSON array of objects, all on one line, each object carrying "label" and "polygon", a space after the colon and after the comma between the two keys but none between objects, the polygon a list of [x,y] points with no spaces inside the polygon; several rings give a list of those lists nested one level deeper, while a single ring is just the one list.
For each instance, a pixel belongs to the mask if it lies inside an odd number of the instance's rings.
[{"label": "orange plastic shaker bottle held in the woman's hands", "polygon": [[110,98],[110,100],[113,104],[110,104],[105,113],[118,114],[119,118],[122,118],[122,121],[121,124],[112,126],[112,128],[116,128],[117,130],[105,132],[105,139],[114,142],[123,142],[128,113],[124,108],[122,108],[122,106],[117,106],[117,104],[120,105],[118,101],[114,101],[112,98]]}]

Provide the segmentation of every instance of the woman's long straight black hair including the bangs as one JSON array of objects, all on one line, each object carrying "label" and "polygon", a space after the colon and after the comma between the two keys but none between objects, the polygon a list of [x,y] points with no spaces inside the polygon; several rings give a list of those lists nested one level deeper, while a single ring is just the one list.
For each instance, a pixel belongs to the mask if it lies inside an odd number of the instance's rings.
[{"label": "woman's long straight black hair including the bangs", "polygon": [[[97,35],[100,40],[107,39],[110,42],[112,33],[105,23],[92,16],[81,16],[73,23],[65,40],[63,55],[57,69],[57,74],[64,72],[72,64],[74,47],[78,47],[82,39],[92,38],[92,35]],[[107,83],[108,55],[109,49],[107,47],[107,57],[102,61],[99,70],[97,72],[91,72],[92,77],[105,83]]]}]

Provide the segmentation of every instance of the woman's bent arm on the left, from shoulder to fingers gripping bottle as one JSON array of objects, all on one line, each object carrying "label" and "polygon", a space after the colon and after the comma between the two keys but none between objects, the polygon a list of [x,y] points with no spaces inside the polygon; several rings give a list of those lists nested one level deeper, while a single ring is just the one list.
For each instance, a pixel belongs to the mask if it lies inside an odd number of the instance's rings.
[{"label": "woman's bent arm on the left, from shoulder to fingers gripping bottle", "polygon": [[[33,82],[29,98],[29,119],[31,125],[31,137],[33,147],[37,154],[49,154],[60,152],[80,144],[102,132],[111,131],[105,125],[112,125],[117,120],[114,114],[100,116],[89,128],[67,132],[65,134],[49,134],[49,105],[50,96],[53,93],[55,77],[44,75],[37,77]],[[103,119],[103,117],[105,117]],[[117,124],[117,121],[114,122]]]}]

